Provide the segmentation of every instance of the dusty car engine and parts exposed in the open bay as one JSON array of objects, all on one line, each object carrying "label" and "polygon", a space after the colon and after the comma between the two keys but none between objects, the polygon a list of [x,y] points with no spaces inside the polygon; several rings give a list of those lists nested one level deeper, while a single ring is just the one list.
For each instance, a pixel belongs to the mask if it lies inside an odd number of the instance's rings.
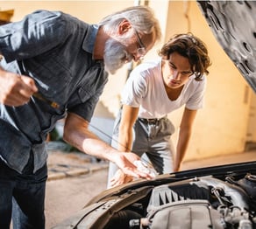
[{"label": "dusty car engine and parts exposed in the open bay", "polygon": [[256,228],[256,176],[161,184],[116,212],[105,228]]}]

